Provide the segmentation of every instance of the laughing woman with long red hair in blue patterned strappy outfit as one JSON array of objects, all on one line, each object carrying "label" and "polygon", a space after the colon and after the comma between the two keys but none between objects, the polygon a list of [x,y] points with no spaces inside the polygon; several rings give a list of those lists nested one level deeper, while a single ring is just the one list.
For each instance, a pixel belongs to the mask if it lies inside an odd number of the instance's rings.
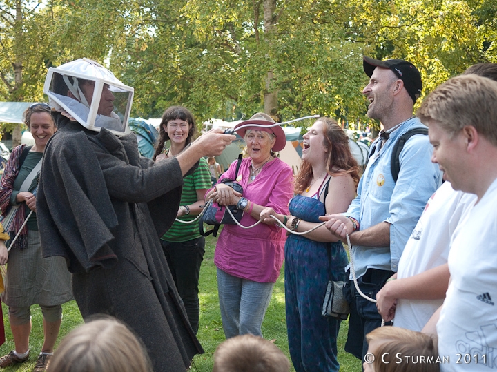
[{"label": "laughing woman with long red hair in blue patterned strappy outfit", "polygon": [[[304,134],[302,165],[295,178],[291,216],[273,214],[294,231],[307,231],[319,216],[344,212],[355,197],[359,169],[349,138],[336,121],[318,118]],[[331,260],[330,256],[331,255]],[[330,267],[331,262],[331,267]],[[289,350],[297,372],[338,371],[336,339],[340,320],[321,315],[328,280],[344,280],[347,254],[342,242],[323,227],[285,244],[285,302]]]}]

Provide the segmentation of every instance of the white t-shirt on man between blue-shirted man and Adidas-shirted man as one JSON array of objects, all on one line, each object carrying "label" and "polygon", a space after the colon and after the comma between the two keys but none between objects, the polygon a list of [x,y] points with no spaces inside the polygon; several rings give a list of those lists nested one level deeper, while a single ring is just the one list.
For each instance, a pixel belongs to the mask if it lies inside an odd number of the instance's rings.
[{"label": "white t-shirt on man between blue-shirted man and Adidas-shirted man", "polygon": [[[400,257],[397,278],[409,278],[447,263],[451,236],[459,220],[476,202],[476,195],[456,191],[445,182],[429,198]],[[440,300],[399,299],[393,325],[421,331]]]}]

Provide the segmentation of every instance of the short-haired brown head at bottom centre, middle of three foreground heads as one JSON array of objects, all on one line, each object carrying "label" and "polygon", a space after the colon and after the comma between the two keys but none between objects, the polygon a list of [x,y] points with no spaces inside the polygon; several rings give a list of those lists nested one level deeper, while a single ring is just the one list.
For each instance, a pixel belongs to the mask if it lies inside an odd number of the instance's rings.
[{"label": "short-haired brown head at bottom centre, middle of three foreground heads", "polygon": [[255,335],[239,335],[220,344],[213,372],[289,372],[290,362],[275,344]]}]

